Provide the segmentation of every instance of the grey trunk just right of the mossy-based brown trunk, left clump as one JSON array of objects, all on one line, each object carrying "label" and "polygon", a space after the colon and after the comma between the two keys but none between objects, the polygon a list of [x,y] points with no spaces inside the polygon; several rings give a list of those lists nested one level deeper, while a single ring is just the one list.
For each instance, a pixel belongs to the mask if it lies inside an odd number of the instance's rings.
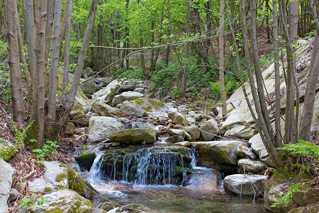
[{"label": "grey trunk just right of the mossy-based brown trunk, left clump", "polygon": [[49,80],[48,94],[48,125],[47,132],[50,133],[53,129],[56,119],[56,87],[58,80],[58,68],[60,58],[60,24],[62,13],[62,0],[56,0],[53,19],[53,38],[52,38],[52,53],[51,53],[51,69]]}]

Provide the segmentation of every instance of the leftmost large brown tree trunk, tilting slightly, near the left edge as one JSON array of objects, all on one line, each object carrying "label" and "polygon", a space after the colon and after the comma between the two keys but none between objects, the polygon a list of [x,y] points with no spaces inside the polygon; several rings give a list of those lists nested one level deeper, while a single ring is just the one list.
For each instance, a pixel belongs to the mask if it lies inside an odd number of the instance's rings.
[{"label": "leftmost large brown tree trunk, tilting slightly, near the left edge", "polygon": [[5,18],[7,29],[7,49],[9,56],[9,74],[10,74],[10,88],[13,120],[20,124],[24,124],[25,107],[22,93],[22,82],[19,65],[19,49],[18,49],[18,34],[17,34],[17,2],[4,1]]}]

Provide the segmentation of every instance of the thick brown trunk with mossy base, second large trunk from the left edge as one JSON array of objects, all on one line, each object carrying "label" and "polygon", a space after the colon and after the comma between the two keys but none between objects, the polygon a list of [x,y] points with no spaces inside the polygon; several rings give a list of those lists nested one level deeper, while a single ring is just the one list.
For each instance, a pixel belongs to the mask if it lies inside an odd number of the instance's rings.
[{"label": "thick brown trunk with mossy base, second large trunk from the left edge", "polygon": [[[37,0],[35,13],[35,67],[33,72],[33,96],[30,120],[33,123],[33,138],[36,147],[41,147],[44,137],[44,82],[46,70],[44,65],[45,31],[47,23],[47,1]],[[33,144],[34,145],[34,144]]]}]

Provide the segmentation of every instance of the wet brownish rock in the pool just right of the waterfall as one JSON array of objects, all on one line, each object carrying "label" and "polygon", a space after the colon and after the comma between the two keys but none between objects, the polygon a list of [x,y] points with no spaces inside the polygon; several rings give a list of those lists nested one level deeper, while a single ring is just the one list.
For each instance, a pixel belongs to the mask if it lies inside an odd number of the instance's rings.
[{"label": "wet brownish rock in the pool just right of the waterfall", "polygon": [[196,169],[187,177],[185,188],[202,191],[218,191],[219,172]]}]

